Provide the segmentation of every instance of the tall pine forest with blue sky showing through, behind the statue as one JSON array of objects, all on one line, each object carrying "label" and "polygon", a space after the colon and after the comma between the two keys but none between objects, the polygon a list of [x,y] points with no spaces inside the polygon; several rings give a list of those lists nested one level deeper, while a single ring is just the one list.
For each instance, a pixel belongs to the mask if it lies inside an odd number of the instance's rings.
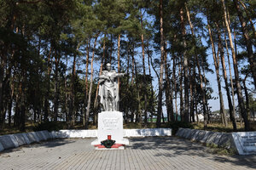
[{"label": "tall pine forest with blue sky showing through, behind the statue", "polygon": [[119,79],[125,123],[203,115],[207,127],[212,72],[221,122],[249,131],[255,17],[253,0],[0,0],[0,129],[96,124],[97,77],[109,62],[127,73]]}]

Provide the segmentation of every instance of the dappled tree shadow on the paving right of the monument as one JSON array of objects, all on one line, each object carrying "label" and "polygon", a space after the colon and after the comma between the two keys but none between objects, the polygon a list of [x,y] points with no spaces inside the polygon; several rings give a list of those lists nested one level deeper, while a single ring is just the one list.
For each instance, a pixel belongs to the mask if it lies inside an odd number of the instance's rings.
[{"label": "dappled tree shadow on the paving right of the monument", "polygon": [[256,169],[256,155],[253,156],[221,156],[210,153],[209,148],[203,144],[191,142],[188,139],[177,137],[146,137],[131,138],[130,146],[132,150],[166,150],[155,154],[154,156],[201,156],[207,157],[212,161],[229,162],[231,164]]}]

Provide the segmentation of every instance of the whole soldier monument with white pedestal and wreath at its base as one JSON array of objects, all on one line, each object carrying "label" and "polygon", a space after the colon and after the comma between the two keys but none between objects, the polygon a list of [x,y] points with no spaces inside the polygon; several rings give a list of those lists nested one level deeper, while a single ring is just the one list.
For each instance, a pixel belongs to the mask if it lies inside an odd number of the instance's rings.
[{"label": "whole soldier monument with white pedestal and wreath at its base", "polygon": [[107,70],[102,71],[99,77],[99,97],[102,112],[98,114],[97,139],[91,144],[100,148],[124,149],[129,144],[123,134],[123,113],[119,111],[119,85],[118,77],[125,73],[111,70],[111,64],[106,65]]}]

